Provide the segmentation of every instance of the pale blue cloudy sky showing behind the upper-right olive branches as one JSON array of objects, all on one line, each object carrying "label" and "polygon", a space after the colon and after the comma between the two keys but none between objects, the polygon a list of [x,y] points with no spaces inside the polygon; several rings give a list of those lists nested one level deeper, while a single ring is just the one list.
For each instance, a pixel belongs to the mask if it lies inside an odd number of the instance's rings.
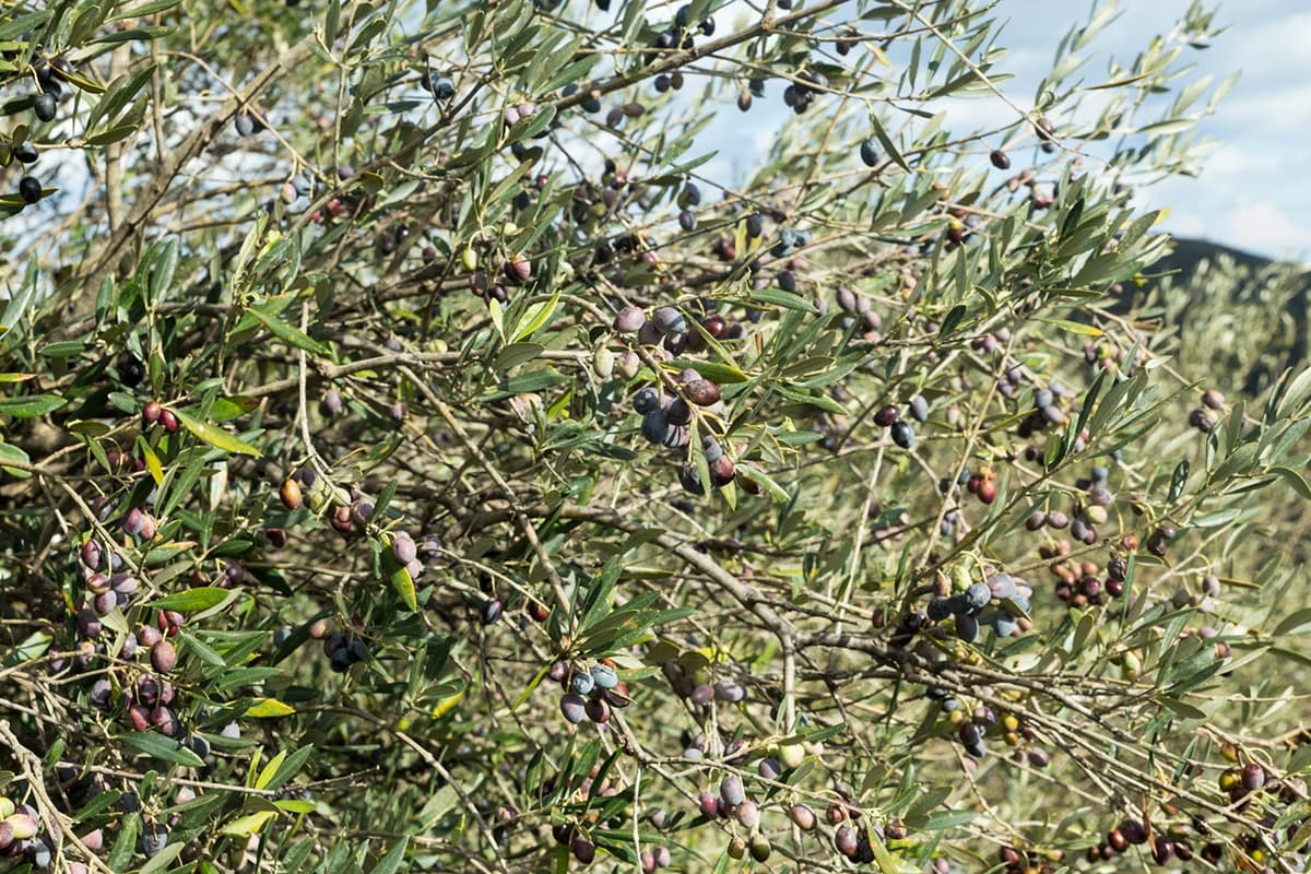
[{"label": "pale blue cloudy sky showing behind the upper-right olive branches", "polygon": [[[1101,4],[1105,5],[1105,4]],[[1151,37],[1168,34],[1189,0],[1121,0],[1118,18],[1088,50],[1088,83],[1101,81],[1112,56],[1125,67]],[[1311,261],[1311,1],[1207,1],[1227,28],[1209,48],[1188,52],[1193,75],[1218,84],[1240,71],[1236,85],[1200,131],[1215,142],[1197,178],[1175,178],[1139,193],[1142,207],[1171,207],[1163,228],[1253,254]],[[1055,45],[1071,25],[1087,21],[1091,3],[1080,0],[1000,0],[1006,21],[999,45],[1009,48],[996,71],[1013,73],[1002,85],[1017,105],[1032,105],[1034,86],[1050,68]],[[1185,81],[1192,81],[1188,79]],[[758,101],[742,115],[721,114],[707,131],[720,156],[711,172],[741,173],[753,152],[763,152],[784,118],[773,100]],[[1202,101],[1205,104],[1205,100]],[[763,106],[762,106],[763,105]],[[764,109],[766,111],[760,111]],[[958,101],[948,127],[964,132],[1007,121],[1000,101]],[[1013,117],[1013,114],[1011,114]],[[754,144],[754,149],[753,145]],[[716,165],[718,165],[716,168]]]}]

